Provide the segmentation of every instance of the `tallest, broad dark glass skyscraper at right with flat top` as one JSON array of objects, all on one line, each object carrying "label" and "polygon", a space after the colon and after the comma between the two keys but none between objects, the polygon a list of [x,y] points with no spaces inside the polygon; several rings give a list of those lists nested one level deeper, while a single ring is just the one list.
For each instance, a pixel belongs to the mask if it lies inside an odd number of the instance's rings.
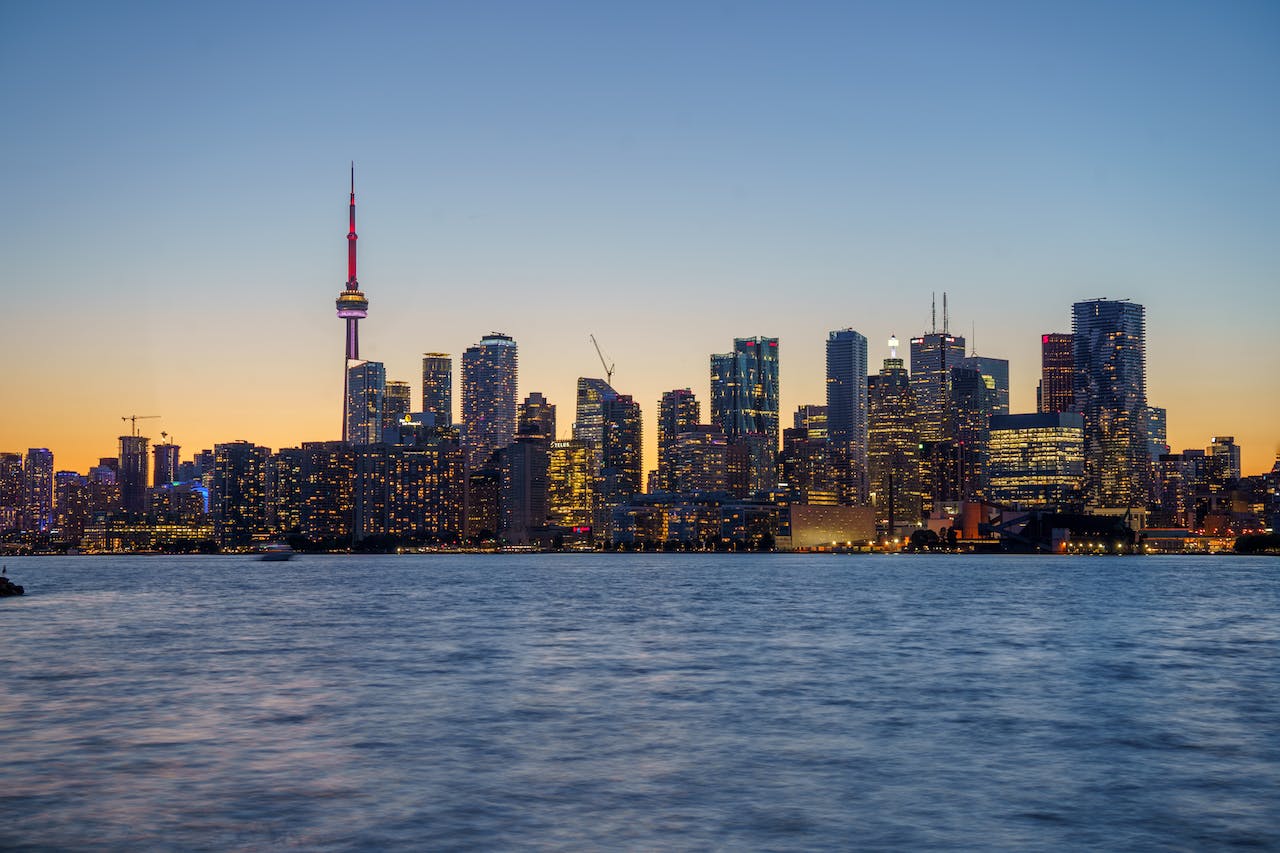
[{"label": "tallest, broad dark glass skyscraper at right with flat top", "polygon": [[1146,309],[1128,300],[1071,306],[1073,406],[1084,416],[1084,493],[1094,506],[1147,501],[1146,325]]}]

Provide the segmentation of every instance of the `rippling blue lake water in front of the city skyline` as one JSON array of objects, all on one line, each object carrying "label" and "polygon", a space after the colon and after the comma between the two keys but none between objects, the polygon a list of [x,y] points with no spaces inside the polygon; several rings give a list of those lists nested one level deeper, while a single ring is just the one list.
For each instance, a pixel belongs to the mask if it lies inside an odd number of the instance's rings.
[{"label": "rippling blue lake water in front of the city skyline", "polygon": [[8,558],[0,849],[1280,849],[1280,560]]}]

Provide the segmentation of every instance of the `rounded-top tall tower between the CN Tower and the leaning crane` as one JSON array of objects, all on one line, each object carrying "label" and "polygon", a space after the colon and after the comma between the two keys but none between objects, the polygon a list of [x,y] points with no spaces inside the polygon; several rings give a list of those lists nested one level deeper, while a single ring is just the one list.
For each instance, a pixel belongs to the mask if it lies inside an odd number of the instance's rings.
[{"label": "rounded-top tall tower between the CN Tower and the leaning crane", "polygon": [[518,364],[516,342],[500,332],[462,353],[462,446],[470,470],[516,437]]}]

